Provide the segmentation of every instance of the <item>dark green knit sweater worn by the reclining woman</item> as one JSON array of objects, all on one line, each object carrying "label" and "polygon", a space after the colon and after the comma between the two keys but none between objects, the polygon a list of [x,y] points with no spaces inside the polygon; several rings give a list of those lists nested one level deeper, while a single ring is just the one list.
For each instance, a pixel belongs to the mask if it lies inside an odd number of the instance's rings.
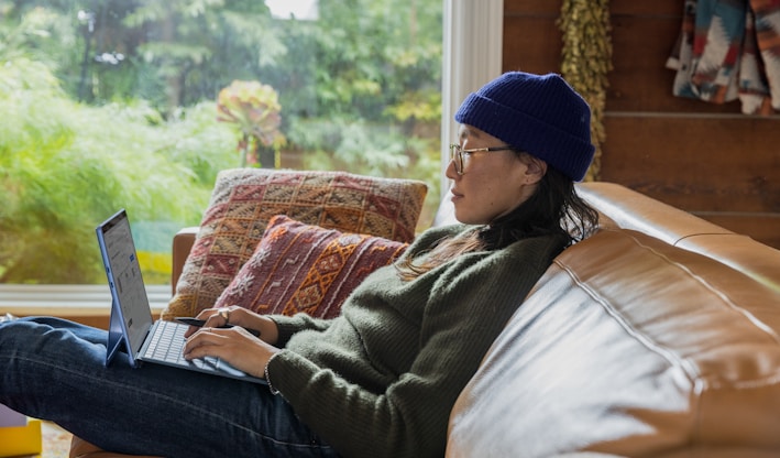
[{"label": "dark green knit sweater worn by the reclining woman", "polygon": [[[430,229],[404,257],[474,227]],[[345,457],[440,457],[461,390],[561,251],[556,237],[468,253],[413,281],[370,275],[332,320],[274,316],[274,389]]]}]

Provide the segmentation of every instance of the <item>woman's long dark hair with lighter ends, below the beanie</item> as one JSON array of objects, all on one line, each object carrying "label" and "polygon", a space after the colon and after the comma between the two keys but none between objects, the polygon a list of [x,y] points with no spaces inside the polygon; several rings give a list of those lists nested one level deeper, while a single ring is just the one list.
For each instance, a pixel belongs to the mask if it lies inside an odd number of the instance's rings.
[{"label": "woman's long dark hair with lighter ends, below the beanie", "polygon": [[411,280],[462,253],[499,250],[540,236],[559,236],[569,247],[597,227],[598,211],[576,194],[571,178],[548,165],[534,194],[517,208],[466,237],[443,239],[425,261],[407,257],[396,268],[402,277]]}]

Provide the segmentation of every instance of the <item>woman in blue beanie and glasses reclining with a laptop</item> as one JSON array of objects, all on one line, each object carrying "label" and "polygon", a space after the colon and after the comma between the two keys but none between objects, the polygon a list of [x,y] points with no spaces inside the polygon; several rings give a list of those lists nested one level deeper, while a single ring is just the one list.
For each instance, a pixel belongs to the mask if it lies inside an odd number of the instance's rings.
[{"label": "woman in blue beanie and glasses reclining with a laptop", "polygon": [[0,402],[129,454],[442,456],[450,410],[490,345],[597,222],[573,190],[593,157],[590,109],[559,76],[502,75],[455,120],[447,176],[462,225],[420,235],[336,319],[232,306],[189,329],[186,358],[222,358],[268,386],[107,369],[103,331],[33,318],[0,325]]}]

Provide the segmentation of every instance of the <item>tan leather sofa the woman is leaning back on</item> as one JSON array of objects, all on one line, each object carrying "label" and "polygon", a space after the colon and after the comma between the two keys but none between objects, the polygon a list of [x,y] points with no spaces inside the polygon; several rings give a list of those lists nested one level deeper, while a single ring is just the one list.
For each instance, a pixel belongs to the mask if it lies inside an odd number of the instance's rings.
[{"label": "tan leather sofa the woman is leaning back on", "polygon": [[[602,228],[496,339],[447,456],[780,456],[780,251],[619,185],[579,192]],[[72,457],[119,456],[96,452],[74,438]]]}]

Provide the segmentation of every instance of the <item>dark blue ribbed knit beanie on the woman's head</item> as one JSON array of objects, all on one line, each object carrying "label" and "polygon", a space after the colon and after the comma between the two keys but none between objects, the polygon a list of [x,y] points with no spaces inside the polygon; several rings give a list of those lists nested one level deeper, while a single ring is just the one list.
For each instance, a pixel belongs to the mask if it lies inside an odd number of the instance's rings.
[{"label": "dark blue ribbed knit beanie on the woman's head", "polygon": [[505,73],[470,94],[455,121],[541,159],[575,182],[593,161],[591,108],[556,74]]}]

